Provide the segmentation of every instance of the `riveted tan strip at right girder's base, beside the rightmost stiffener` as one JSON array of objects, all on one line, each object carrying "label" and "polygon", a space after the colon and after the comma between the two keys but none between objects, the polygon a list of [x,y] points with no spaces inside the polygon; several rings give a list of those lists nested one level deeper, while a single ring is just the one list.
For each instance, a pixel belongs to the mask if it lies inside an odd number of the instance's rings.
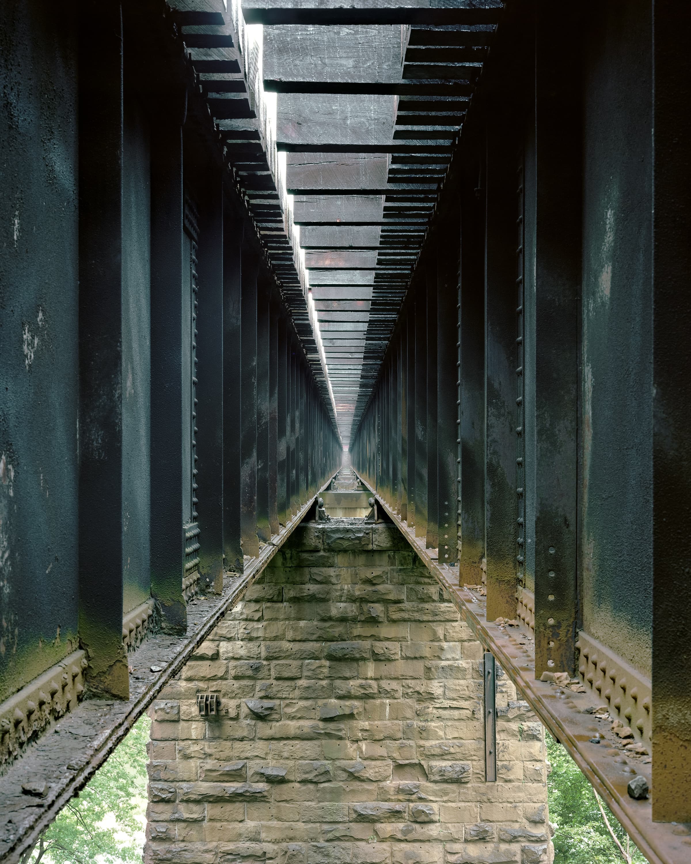
[{"label": "riveted tan strip at right girder's base, beside the rightmost stiffener", "polygon": [[579,633],[576,648],[580,650],[582,683],[599,693],[608,703],[612,716],[624,719],[636,737],[650,740],[650,681],[585,632]]}]

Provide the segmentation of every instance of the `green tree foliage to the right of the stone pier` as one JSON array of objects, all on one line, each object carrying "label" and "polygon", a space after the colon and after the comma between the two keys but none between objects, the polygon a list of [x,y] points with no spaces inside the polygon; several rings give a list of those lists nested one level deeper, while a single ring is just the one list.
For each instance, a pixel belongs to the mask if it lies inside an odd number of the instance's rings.
[{"label": "green tree foliage to the right of the stone pier", "polygon": [[[549,818],[556,823],[555,864],[624,864],[626,858],[605,824],[593,787],[567,750],[547,734]],[[602,803],[612,832],[631,856],[631,864],[646,864],[617,819]]]}]

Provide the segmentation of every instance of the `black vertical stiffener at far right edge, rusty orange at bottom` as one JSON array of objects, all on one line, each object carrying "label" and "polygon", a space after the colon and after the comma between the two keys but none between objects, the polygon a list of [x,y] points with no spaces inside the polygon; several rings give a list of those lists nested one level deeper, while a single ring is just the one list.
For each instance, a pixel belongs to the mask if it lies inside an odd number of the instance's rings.
[{"label": "black vertical stiffener at far right edge, rusty orange at bottom", "polygon": [[[688,9],[653,6],[653,816],[691,822]],[[680,101],[681,100],[681,101]],[[683,190],[683,191],[682,191]]]}]

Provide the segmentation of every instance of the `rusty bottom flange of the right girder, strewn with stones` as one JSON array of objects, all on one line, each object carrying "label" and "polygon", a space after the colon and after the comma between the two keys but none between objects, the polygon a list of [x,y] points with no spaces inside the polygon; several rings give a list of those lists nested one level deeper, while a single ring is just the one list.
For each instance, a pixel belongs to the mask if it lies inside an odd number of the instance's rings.
[{"label": "rusty bottom flange of the right girder, strewn with stones", "polygon": [[[653,822],[650,797],[643,800],[629,797],[626,787],[637,774],[646,778],[651,795],[654,794],[652,766],[639,759],[628,761],[628,754],[621,749],[622,742],[610,731],[610,722],[598,721],[586,710],[606,704],[605,700],[597,698],[593,692],[574,693],[552,683],[536,681],[534,642],[529,627],[511,627],[508,632],[487,621],[485,598],[459,585],[458,567],[440,564],[436,558],[437,550],[426,549],[425,538],[415,537],[414,530],[409,530],[384,499],[359,474],[358,477],[375,495],[378,505],[396,524],[429,572],[446,588],[485,651],[494,655],[542,724],[567,748],[593,789],[604,798],[650,864],[686,864],[691,861],[691,826]],[[521,642],[525,645],[520,645]],[[599,743],[593,743],[593,739]]]}]

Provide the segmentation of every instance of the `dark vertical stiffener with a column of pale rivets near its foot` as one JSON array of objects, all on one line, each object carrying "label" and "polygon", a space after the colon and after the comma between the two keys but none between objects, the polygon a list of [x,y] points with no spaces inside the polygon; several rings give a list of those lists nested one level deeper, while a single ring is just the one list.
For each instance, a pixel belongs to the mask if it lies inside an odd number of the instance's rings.
[{"label": "dark vertical stiffener with a column of pale rivets near its foot", "polygon": [[[557,32],[572,38],[558,48]],[[536,676],[573,674],[576,631],[580,18],[536,13],[535,633]],[[561,80],[559,95],[555,77]],[[563,143],[569,143],[565,150]],[[559,145],[557,145],[559,142]],[[526,298],[526,303],[529,302]]]}]

